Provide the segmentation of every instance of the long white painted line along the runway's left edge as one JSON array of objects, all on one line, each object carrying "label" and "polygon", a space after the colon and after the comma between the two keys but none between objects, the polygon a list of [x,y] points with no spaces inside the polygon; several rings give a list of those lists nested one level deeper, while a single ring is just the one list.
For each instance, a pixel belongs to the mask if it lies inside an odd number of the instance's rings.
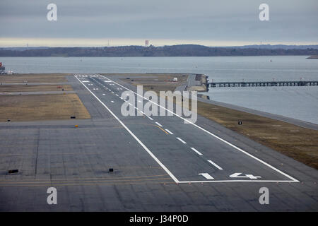
[{"label": "long white painted line along the runway's left edge", "polygon": [[[79,80],[79,79],[77,78],[77,76],[75,76],[75,78],[82,83],[82,81]],[[90,89],[89,89],[84,83],[82,83],[82,84],[85,86],[85,88],[86,88],[88,91],[90,91]],[[112,114],[112,116],[113,116],[115,119],[117,119],[117,121],[119,121],[120,124],[122,124],[122,126],[124,127],[124,129],[126,129],[126,131],[128,131],[128,132],[130,133],[130,135],[141,145],[141,147],[143,147],[143,149],[145,149],[146,152],[147,152],[149,155],[151,155],[151,157],[153,157],[153,159],[155,160],[155,162],[157,162],[157,163],[160,165],[160,167],[162,167],[162,168],[165,170],[165,172],[167,172],[167,174],[169,174],[169,176],[170,176],[176,183],[179,183],[178,179],[170,172],[170,170],[167,169],[167,167],[165,167],[165,165],[163,165],[163,163],[160,162],[160,160],[158,160],[158,158],[155,157],[155,155],[153,155],[153,153],[151,152],[151,150],[149,150],[149,149],[146,147],[146,145],[144,145],[144,144],[141,142],[141,140],[139,140],[139,138],[136,137],[136,135],[135,135],[133,132],[130,131],[130,129],[128,129],[128,127],[100,100],[100,98],[98,98],[92,91],[90,91],[90,93],[102,104],[102,106],[104,106],[104,107],[108,110],[108,112],[110,112],[110,114]]]}]

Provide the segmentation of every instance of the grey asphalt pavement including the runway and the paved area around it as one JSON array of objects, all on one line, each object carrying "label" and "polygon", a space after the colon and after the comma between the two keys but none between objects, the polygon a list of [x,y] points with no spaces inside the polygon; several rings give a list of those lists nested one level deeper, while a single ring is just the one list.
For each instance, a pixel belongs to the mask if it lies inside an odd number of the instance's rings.
[{"label": "grey asphalt pavement including the runway and the paved area around it", "polygon": [[[148,116],[148,100],[116,76],[68,79],[92,119],[1,123],[0,210],[318,210],[316,169],[204,117]],[[47,204],[51,186],[57,205]]]}]

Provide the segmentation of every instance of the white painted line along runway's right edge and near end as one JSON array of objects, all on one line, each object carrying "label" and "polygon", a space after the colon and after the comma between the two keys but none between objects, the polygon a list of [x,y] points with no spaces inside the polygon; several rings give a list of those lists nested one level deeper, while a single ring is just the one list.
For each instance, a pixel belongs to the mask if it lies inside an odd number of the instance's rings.
[{"label": "white painted line along runway's right edge and near end", "polygon": [[[102,77],[107,78],[105,76],[102,76]],[[107,78],[107,79],[112,81],[110,78]],[[112,81],[112,82],[116,83],[114,81]],[[124,85],[120,85],[119,83],[116,83],[116,84],[121,86],[122,88],[124,88],[126,90],[129,90],[129,88],[124,87]],[[131,91],[132,93],[135,93],[136,95],[139,95],[138,93],[134,92],[133,90],[129,90],[129,91]],[[275,170],[276,172],[279,172],[280,174],[283,174],[285,177],[288,177],[289,179],[291,179],[291,180],[285,180],[285,181],[283,181],[283,180],[267,180],[267,181],[265,181],[265,180],[259,180],[259,181],[252,180],[250,182],[299,182],[298,179],[295,179],[295,178],[291,177],[290,175],[285,174],[285,172],[282,172],[281,170],[276,169],[272,165],[269,165],[269,163],[264,162],[263,160],[260,160],[258,157],[255,157],[254,155],[251,155],[251,154],[247,153],[245,150],[242,150],[241,148],[238,148],[237,146],[233,145],[232,143],[230,143],[228,141],[225,141],[223,138],[220,138],[219,136],[216,136],[214,133],[211,133],[210,131],[207,131],[206,129],[203,129],[201,126],[198,126],[198,125],[194,124],[192,121],[189,121],[187,119],[184,119],[183,117],[180,117],[179,115],[175,114],[175,112],[171,112],[169,109],[166,109],[165,107],[163,107],[161,105],[158,105],[158,103],[153,102],[152,100],[148,100],[146,97],[143,97],[143,95],[139,95],[139,96],[142,97],[143,99],[149,101],[149,102],[152,102],[154,105],[157,105],[158,107],[161,107],[161,108],[165,109],[166,111],[174,114],[176,117],[179,117],[180,119],[182,119],[184,121],[187,121],[187,123],[192,124],[193,126],[196,126],[196,128],[201,129],[202,131],[205,131],[206,133],[210,134],[211,136],[217,138],[218,140],[230,145],[232,148],[235,148],[236,150],[239,150],[240,152],[245,153],[245,155],[248,155],[249,157],[254,158],[254,160],[257,160],[257,161],[263,163],[267,167]],[[211,182],[217,182],[217,181],[211,181]],[[242,180],[242,181],[237,181],[237,180],[228,181],[228,180],[226,180],[226,181],[219,181],[219,182],[247,182],[247,180]],[[189,182],[180,182],[180,183],[189,183]]]}]

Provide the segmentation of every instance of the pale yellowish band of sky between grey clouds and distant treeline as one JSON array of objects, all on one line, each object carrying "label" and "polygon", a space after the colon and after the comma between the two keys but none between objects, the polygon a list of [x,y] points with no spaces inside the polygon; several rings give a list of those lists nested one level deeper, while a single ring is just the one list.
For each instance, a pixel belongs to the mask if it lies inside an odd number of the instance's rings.
[{"label": "pale yellowish band of sky between grey clouds and distant treeline", "polygon": [[145,41],[155,47],[180,44],[195,44],[206,47],[243,47],[246,45],[318,45],[318,42],[303,41],[235,41],[235,40],[175,40],[175,39],[141,39],[141,38],[33,38],[33,37],[0,37],[1,48],[14,47],[124,47],[143,46]]}]

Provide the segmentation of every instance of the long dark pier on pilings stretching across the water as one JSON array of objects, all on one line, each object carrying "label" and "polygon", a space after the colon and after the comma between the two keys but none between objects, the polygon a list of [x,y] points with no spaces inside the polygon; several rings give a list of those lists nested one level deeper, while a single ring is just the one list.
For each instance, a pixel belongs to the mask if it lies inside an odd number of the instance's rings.
[{"label": "long dark pier on pilings stretching across the water", "polygon": [[207,83],[208,87],[266,87],[318,85],[318,81],[270,81],[270,82],[220,82]]}]

